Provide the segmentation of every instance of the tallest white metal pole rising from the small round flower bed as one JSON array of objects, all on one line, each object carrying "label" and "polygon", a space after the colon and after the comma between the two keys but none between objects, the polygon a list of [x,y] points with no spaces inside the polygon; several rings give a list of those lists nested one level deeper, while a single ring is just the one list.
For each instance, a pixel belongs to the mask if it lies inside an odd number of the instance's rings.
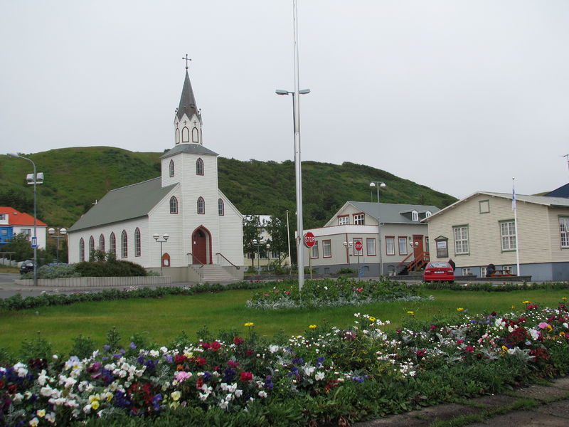
[{"label": "tallest white metal pole rising from the small round flower bed", "polygon": [[304,286],[304,246],[302,237],[302,167],[300,159],[300,93],[299,93],[299,65],[298,65],[298,14],[297,0],[292,0],[292,20],[294,22],[294,95],[292,95],[294,110],[294,166],[296,169],[297,184],[297,266],[298,288]]}]

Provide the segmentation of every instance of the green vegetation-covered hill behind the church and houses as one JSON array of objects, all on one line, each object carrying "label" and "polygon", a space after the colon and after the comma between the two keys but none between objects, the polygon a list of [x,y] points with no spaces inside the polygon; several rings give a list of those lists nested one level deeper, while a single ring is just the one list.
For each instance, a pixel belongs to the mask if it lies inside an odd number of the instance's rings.
[{"label": "green vegetation-covered hill behind the church and houses", "polygon": [[[45,181],[38,186],[38,218],[50,226],[69,227],[107,191],[160,174],[162,153],[130,152],[112,147],[76,147],[22,154],[36,163]],[[0,206],[33,214],[29,162],[0,156]],[[218,158],[219,187],[242,214],[282,216],[296,210],[294,162],[243,162]],[[361,164],[302,163],[304,228],[323,226],[346,201],[371,201],[370,181],[385,181],[381,201],[429,204],[444,208],[455,199],[393,174]],[[294,220],[293,220],[294,221]]]}]

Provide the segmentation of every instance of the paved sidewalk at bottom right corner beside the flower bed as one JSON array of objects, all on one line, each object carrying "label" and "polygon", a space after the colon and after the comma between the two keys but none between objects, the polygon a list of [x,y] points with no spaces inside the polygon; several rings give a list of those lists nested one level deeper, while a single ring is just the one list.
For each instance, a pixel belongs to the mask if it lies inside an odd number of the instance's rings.
[{"label": "paved sidewalk at bottom right corner beside the flower bed", "polygon": [[567,427],[569,376],[504,394],[355,423],[354,427]]}]

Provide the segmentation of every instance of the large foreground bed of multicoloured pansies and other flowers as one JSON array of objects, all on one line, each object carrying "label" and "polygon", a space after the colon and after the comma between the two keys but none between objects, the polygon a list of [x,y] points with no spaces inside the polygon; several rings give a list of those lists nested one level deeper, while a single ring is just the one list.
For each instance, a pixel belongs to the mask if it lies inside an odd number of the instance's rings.
[{"label": "large foreground bed of multicoloured pansies and other flowers", "polygon": [[30,359],[0,368],[7,426],[318,426],[494,393],[569,370],[569,312],[526,310],[421,323],[400,330],[357,313],[353,326],[309,325],[267,342],[247,322],[168,347],[117,347],[90,357]]}]

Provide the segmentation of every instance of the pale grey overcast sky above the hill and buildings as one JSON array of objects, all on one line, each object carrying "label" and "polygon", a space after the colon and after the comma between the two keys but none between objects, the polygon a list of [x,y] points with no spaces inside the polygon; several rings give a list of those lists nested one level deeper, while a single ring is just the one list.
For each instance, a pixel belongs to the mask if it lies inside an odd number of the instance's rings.
[{"label": "pale grey overcast sky above the hill and buildings", "polygon": [[[298,0],[302,159],[464,197],[569,181],[569,1]],[[0,144],[294,159],[292,0],[0,1]]]}]

